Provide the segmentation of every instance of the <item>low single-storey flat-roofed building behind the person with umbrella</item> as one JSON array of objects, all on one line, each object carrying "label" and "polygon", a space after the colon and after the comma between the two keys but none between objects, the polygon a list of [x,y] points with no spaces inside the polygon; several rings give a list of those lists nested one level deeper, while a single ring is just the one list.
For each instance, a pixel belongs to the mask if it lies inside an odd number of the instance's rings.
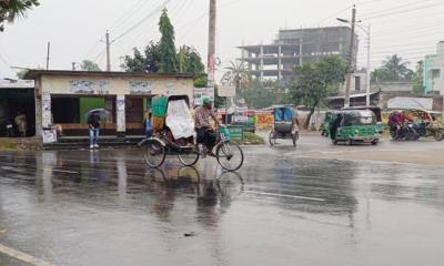
[{"label": "low single-storey flat-roofed building behind the person with umbrella", "polygon": [[65,135],[88,135],[85,113],[92,109],[112,114],[104,134],[143,134],[144,110],[154,95],[192,100],[194,88],[192,74],[31,70],[26,79],[36,82],[36,135],[42,139],[56,124]]}]

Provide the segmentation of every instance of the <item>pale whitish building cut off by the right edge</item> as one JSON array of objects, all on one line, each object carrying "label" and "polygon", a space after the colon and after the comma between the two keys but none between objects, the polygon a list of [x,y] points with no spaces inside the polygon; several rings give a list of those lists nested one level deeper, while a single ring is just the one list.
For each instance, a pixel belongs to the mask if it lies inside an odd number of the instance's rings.
[{"label": "pale whitish building cut off by the right edge", "polygon": [[436,54],[425,57],[424,88],[426,94],[444,95],[444,41],[437,43]]}]

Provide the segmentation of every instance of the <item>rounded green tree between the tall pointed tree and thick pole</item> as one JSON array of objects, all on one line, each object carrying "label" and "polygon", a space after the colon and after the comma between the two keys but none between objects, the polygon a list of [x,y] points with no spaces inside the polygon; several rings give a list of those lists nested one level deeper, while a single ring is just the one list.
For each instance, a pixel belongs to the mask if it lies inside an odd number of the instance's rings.
[{"label": "rounded green tree between the tall pointed tree and thick pole", "polygon": [[191,47],[182,45],[178,52],[180,73],[203,73],[205,66],[199,52]]}]

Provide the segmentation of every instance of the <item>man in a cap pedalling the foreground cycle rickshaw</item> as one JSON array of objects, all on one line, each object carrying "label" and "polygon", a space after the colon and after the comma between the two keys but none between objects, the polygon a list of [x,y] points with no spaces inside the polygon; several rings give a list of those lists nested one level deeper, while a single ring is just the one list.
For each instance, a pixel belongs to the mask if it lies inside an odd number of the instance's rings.
[{"label": "man in a cap pedalling the foreground cycle rickshaw", "polygon": [[210,117],[216,125],[220,125],[218,116],[212,110],[213,101],[211,99],[203,99],[203,105],[195,109],[195,132],[198,135],[198,143],[205,145],[208,154],[214,156],[212,152],[216,137],[214,130],[210,125]]}]

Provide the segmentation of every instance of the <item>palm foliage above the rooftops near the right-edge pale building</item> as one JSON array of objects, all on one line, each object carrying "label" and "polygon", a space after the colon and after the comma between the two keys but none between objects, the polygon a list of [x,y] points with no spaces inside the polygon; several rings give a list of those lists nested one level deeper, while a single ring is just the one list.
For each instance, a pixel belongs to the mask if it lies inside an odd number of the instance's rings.
[{"label": "palm foliage above the rooftops near the right-edge pale building", "polygon": [[410,62],[397,54],[387,57],[382,66],[372,72],[372,81],[410,81],[413,71],[408,69]]}]

